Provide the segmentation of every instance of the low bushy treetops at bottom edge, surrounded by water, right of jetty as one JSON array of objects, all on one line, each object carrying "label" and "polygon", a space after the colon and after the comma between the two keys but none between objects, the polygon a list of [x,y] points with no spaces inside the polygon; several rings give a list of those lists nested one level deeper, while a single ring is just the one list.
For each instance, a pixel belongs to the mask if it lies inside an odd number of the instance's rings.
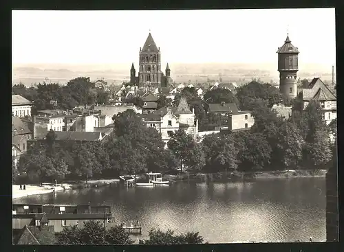
[{"label": "low bushy treetops at bottom edge, surrounded by water, right of jetty", "polygon": [[140,244],[202,244],[204,239],[198,232],[182,233],[176,236],[171,229],[166,232],[151,229],[148,240],[140,240]]}]

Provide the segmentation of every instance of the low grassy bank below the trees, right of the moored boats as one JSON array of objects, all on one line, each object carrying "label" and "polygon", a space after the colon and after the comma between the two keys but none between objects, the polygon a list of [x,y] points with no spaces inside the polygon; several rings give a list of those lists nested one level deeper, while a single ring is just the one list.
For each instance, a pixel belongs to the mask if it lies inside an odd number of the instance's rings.
[{"label": "low grassy bank below the trees, right of the moored boats", "polygon": [[327,170],[281,170],[266,172],[217,172],[217,173],[182,173],[163,176],[164,180],[178,181],[245,181],[248,179],[286,179],[325,177]]}]

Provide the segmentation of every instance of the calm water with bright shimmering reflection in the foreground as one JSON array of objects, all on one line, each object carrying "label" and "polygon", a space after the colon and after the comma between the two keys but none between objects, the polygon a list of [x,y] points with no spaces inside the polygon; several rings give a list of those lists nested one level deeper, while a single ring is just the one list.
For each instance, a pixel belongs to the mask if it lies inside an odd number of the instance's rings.
[{"label": "calm water with bright shimmering reflection in the foreground", "polygon": [[115,222],[199,231],[210,243],[325,242],[325,179],[256,179],[246,183],[175,183],[169,187],[102,187],[42,194],[14,203],[111,205]]}]

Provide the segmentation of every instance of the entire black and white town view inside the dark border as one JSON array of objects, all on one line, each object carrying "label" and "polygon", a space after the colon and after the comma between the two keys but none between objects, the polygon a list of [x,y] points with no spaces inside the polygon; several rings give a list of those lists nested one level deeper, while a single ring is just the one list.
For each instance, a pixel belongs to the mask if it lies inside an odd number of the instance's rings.
[{"label": "entire black and white town view inside the dark border", "polygon": [[11,34],[13,244],[338,241],[334,8],[12,10]]}]

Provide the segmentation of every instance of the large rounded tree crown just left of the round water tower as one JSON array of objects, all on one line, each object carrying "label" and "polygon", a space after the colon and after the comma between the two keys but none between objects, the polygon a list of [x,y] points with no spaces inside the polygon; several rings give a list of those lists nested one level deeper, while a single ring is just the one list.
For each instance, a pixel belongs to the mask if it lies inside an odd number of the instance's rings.
[{"label": "large rounded tree crown just left of the round water tower", "polygon": [[244,86],[237,88],[237,99],[239,100],[241,110],[250,110],[251,100],[264,100],[269,108],[274,104],[281,102],[282,95],[279,89],[271,84],[261,84],[252,81]]}]

